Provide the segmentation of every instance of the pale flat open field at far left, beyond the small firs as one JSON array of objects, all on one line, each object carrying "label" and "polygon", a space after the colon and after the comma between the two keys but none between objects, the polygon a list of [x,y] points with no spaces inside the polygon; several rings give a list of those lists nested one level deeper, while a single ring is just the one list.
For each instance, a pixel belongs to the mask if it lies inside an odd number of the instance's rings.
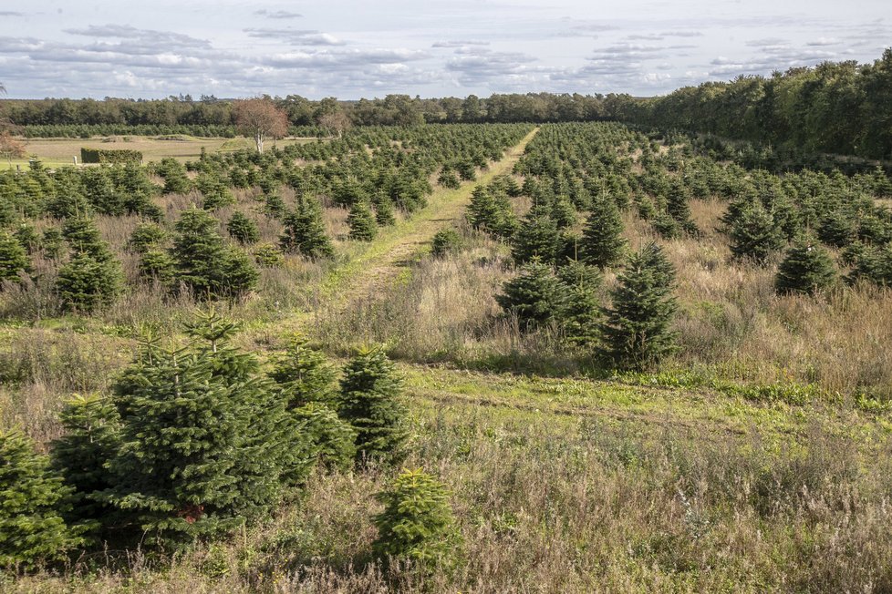
[{"label": "pale flat open field at far left, beyond the small firs", "polygon": [[[202,148],[209,153],[228,153],[251,148],[251,138],[202,138],[186,134],[165,136],[113,136],[94,138],[21,138],[25,143],[27,156],[11,161],[0,160],[0,169],[26,169],[28,160],[33,156],[48,168],[74,165],[77,158],[80,164],[81,148],[98,148],[103,150],[138,150],[146,163],[161,159],[177,159],[181,162],[196,160],[201,157]],[[282,138],[277,146],[286,147],[291,144],[316,142],[316,138]]]}]

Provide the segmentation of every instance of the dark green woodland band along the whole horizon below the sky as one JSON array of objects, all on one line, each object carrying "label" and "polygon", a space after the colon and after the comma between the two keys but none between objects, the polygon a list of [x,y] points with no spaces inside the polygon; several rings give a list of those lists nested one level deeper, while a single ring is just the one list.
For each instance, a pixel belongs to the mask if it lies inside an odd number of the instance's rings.
[{"label": "dark green woodland band along the whole horizon below the sky", "polygon": [[[425,122],[511,123],[618,120],[654,128],[679,128],[724,138],[808,152],[892,159],[892,48],[873,64],[824,62],[771,77],[682,87],[662,97],[628,94],[494,94],[490,97],[422,99],[408,95],[312,101],[275,97],[293,127],[341,116],[354,126],[411,126]],[[233,102],[181,95],[161,100],[6,100],[5,118],[33,136],[115,134],[114,127],[189,126],[234,134]],[[194,131],[194,130],[193,130]],[[132,133],[132,131],[131,131]]]}]

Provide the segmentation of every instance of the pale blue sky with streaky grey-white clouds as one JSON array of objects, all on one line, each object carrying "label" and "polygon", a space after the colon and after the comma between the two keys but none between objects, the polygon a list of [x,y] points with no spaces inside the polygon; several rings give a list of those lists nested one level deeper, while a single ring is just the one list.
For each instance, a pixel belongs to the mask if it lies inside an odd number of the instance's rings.
[{"label": "pale blue sky with streaky grey-white clouds", "polygon": [[652,96],[886,46],[888,0],[0,0],[12,98]]}]

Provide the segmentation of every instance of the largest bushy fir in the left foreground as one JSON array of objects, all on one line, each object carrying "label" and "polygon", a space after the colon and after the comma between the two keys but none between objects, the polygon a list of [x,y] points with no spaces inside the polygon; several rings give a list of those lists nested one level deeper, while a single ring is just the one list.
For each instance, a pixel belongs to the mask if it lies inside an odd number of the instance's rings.
[{"label": "largest bushy fir in the left foreground", "polygon": [[137,534],[177,547],[262,517],[281,477],[306,472],[306,444],[253,356],[213,310],[187,327],[193,342],[144,341],[113,386],[122,445],[106,499]]}]

